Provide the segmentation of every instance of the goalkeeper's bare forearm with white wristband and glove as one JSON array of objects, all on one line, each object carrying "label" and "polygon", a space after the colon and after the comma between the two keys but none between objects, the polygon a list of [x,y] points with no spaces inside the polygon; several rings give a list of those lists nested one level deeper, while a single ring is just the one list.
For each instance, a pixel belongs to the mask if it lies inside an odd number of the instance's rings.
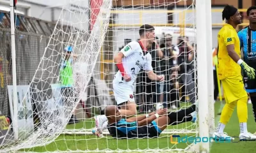
[{"label": "goalkeeper's bare forearm with white wristband and glove", "polygon": [[253,79],[255,78],[255,69],[251,68],[250,66],[248,66],[246,64],[246,62],[244,62],[239,55],[236,54],[235,50],[234,50],[234,45],[227,45],[227,50],[228,50],[228,55],[235,61],[237,62],[237,64],[239,64],[241,66],[241,68],[243,68],[244,72],[246,73],[247,77],[249,79]]}]

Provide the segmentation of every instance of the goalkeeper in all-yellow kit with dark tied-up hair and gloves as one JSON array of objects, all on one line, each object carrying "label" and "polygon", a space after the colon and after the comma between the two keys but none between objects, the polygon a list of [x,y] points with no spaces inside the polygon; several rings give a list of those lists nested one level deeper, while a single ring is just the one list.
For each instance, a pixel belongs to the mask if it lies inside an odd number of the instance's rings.
[{"label": "goalkeeper in all-yellow kit with dark tied-up hair and gloves", "polygon": [[213,134],[217,139],[225,140],[229,137],[223,132],[225,125],[229,121],[234,108],[237,106],[237,116],[240,126],[240,140],[255,140],[256,136],[247,131],[247,93],[244,89],[241,68],[249,79],[255,78],[255,70],[248,66],[241,59],[240,41],[237,36],[236,27],[241,24],[241,15],[237,8],[225,6],[222,11],[223,20],[226,18],[227,24],[218,33],[218,76],[223,85],[226,104],[221,112],[220,122]]}]

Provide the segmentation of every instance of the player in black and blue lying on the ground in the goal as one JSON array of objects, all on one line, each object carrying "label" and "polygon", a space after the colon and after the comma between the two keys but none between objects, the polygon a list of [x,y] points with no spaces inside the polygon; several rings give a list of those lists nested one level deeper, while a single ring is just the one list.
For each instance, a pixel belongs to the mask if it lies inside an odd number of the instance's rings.
[{"label": "player in black and blue lying on the ground in the goal", "polygon": [[177,125],[182,122],[195,122],[196,105],[179,110],[167,112],[167,109],[158,110],[157,113],[140,115],[129,119],[122,119],[117,106],[107,106],[108,131],[114,138],[154,138],[168,125]]}]

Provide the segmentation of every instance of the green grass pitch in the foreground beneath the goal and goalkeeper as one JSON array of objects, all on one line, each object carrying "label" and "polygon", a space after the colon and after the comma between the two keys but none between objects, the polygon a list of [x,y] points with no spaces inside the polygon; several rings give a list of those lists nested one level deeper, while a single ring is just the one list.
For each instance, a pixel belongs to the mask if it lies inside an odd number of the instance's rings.
[{"label": "green grass pitch in the foreground beneath the goal and goalkeeper", "polygon": [[[217,115],[220,108],[220,103],[215,104],[216,123],[220,119]],[[68,125],[67,129],[80,129],[80,128],[93,128],[94,122],[92,119],[88,119],[78,124]],[[193,129],[195,126],[191,122],[179,124],[178,126],[168,126],[168,129]],[[228,122],[225,131],[230,136],[239,135],[239,122],[237,119],[236,111],[233,113],[230,122]],[[248,131],[254,133],[255,122],[253,120],[252,105],[248,105]],[[185,135],[181,135],[185,136]],[[190,135],[189,135],[190,136]],[[211,152],[255,152],[256,142],[239,142],[239,143],[211,143]],[[134,150],[136,149],[185,149],[188,143],[179,143],[173,145],[170,143],[170,135],[161,135],[161,138],[151,139],[133,139],[133,140],[116,140],[111,136],[104,138],[97,138],[93,135],[60,135],[54,142],[49,143],[43,147],[35,147],[31,149],[24,149],[21,151],[33,151],[33,152],[53,152],[53,151],[70,151],[82,152],[84,150]]]}]

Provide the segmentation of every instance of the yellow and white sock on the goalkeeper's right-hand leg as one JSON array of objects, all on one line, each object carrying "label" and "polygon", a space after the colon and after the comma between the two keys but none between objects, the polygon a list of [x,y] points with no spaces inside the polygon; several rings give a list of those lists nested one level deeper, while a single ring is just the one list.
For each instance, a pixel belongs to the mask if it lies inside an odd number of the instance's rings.
[{"label": "yellow and white sock on the goalkeeper's right-hand leg", "polygon": [[246,126],[248,119],[247,96],[237,101],[237,116],[240,123],[240,133],[248,133]]}]

